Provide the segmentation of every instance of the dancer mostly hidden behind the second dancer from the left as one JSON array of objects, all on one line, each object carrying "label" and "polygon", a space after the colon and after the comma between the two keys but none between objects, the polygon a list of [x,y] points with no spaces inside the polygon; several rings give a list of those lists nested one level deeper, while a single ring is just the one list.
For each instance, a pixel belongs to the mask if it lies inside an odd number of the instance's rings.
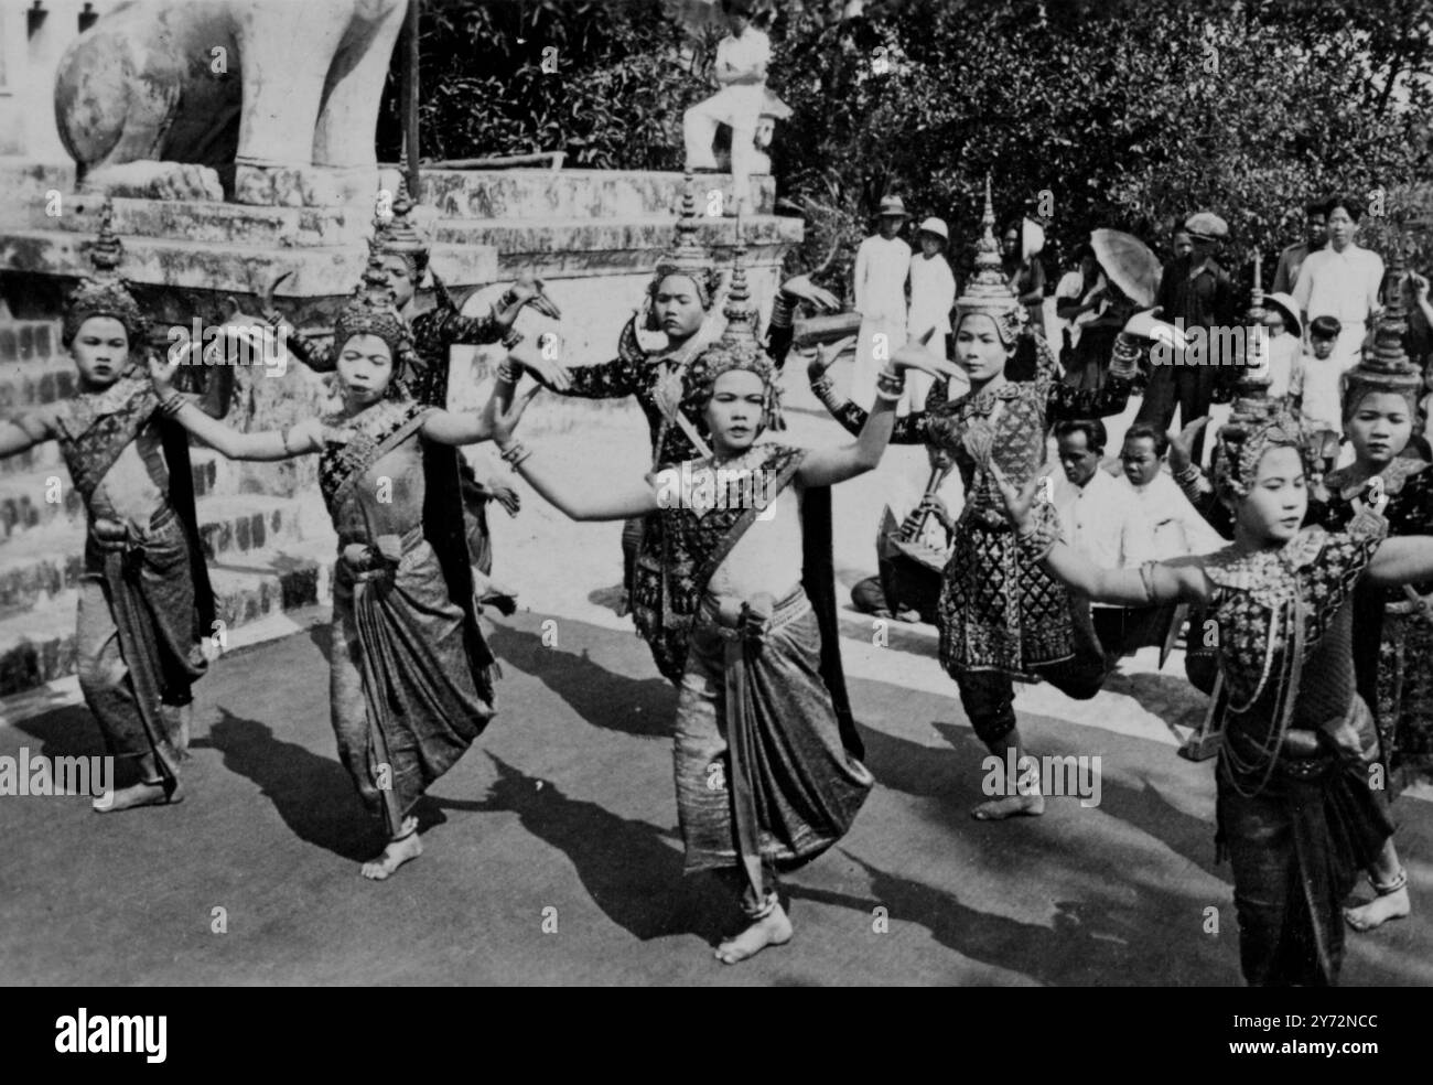
[{"label": "dancer mostly hidden behind the second dancer from the left", "polygon": [[[413,201],[404,182],[398,182],[398,192],[393,199],[393,214],[374,221],[378,251],[383,255],[383,267],[393,288],[394,304],[408,324],[413,337],[411,371],[403,376],[408,396],[416,403],[440,410],[447,407],[449,400],[449,367],[450,351],[457,345],[481,345],[502,341],[509,350],[522,341],[523,335],[513,328],[517,314],[524,307],[533,307],[545,317],[559,318],[562,314],[552,300],[543,292],[542,279],[522,278],[502,295],[492,312],[484,317],[464,317],[453,298],[449,295],[437,272],[431,272],[433,287],[437,294],[437,305],[421,312],[414,311],[414,298],[423,278],[428,272],[428,242],[414,226],[410,215]],[[315,373],[332,373],[338,364],[338,343],[321,345],[305,338],[294,330],[284,315],[274,305],[274,291],[288,274],[272,279],[264,291],[264,318],[284,337],[284,343],[294,357],[302,361]],[[566,384],[566,374],[560,365],[547,363],[536,351],[523,353],[523,364],[529,364],[550,386]],[[487,503],[500,502],[509,513],[516,513],[517,499],[507,487],[493,486],[479,482],[471,464],[456,449],[451,453],[453,470],[457,472],[459,487],[463,494],[463,509],[466,515],[466,533],[469,555],[473,566],[486,578],[492,572],[492,536],[487,529]],[[500,609],[512,613],[512,601],[502,591],[492,595],[480,592],[484,602],[494,602]]]}]

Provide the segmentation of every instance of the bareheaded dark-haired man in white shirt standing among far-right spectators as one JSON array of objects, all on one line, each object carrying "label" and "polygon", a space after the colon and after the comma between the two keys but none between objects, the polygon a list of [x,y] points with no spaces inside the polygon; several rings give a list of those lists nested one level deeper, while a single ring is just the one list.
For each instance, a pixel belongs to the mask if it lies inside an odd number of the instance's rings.
[{"label": "bareheaded dark-haired man in white shirt standing among far-right spectators", "polygon": [[1363,204],[1353,196],[1334,196],[1324,211],[1328,245],[1304,257],[1294,301],[1303,311],[1305,328],[1315,317],[1338,321],[1343,330],[1334,345],[1334,360],[1341,371],[1358,361],[1369,320],[1381,311],[1383,257],[1354,244]]}]

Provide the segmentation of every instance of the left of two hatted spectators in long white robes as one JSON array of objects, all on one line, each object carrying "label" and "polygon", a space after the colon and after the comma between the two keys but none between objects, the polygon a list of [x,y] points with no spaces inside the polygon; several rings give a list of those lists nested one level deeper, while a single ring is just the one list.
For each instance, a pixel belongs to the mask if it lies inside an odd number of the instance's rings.
[{"label": "left of two hatted spectators in long white robes", "polygon": [[883,198],[877,232],[856,251],[856,311],[861,314],[861,330],[856,341],[851,401],[861,407],[871,406],[876,374],[906,343],[910,245],[897,234],[909,218],[900,196]]}]

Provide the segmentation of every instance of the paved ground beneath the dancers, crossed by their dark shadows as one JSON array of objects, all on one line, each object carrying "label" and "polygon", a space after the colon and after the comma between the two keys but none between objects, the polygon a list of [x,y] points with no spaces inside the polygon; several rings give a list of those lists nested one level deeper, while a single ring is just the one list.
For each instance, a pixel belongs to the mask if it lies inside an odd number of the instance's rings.
[{"label": "paved ground beneath the dancers, crossed by their dark shadows", "polygon": [[[575,434],[533,443],[600,484],[612,464],[641,467],[631,419],[610,429],[600,457]],[[833,430],[794,414],[791,436]],[[866,525],[896,469],[838,497],[847,582],[873,565]],[[97,817],[82,798],[0,800],[0,982],[1240,983],[1211,768],[1176,758],[1166,725],[1201,707],[1178,658],[1161,674],[1145,654],[1088,702],[1022,689],[1035,752],[1102,758],[1101,803],[979,824],[983,750],[930,632],[880,648],[854,618],[844,649],[877,788],[790,879],[797,939],[712,962],[732,916],[712,883],[681,876],[675,698],[605,603],[618,530],[536,499],[499,516],[502,575],[530,608],[493,632],[502,714],[434,787],[427,854],[394,880],[357,873],[380,841],[334,755],[317,626],[231,652],[201,684],[182,806]],[[100,752],[66,687],[29,705],[0,707],[0,755]],[[1351,937],[1351,985],[1433,982],[1433,817],[1417,797],[1397,813],[1417,914]]]}]

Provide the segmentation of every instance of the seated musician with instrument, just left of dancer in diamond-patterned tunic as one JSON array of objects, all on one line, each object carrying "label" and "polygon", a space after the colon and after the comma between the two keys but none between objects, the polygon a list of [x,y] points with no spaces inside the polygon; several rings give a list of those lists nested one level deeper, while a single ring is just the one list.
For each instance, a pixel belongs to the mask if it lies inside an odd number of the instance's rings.
[{"label": "seated musician with instrument, just left of dancer in diamond-patterned tunic", "polygon": [[[914,479],[903,480],[896,500],[886,506],[876,539],[880,575],[851,588],[857,611],[901,622],[936,621],[940,598],[940,570],[950,559],[950,539],[956,530],[954,512],[964,502],[960,472],[953,470],[950,449],[956,441],[954,421],[933,416],[924,423],[926,454],[930,474],[924,489]],[[897,513],[904,513],[897,520]]]}]

